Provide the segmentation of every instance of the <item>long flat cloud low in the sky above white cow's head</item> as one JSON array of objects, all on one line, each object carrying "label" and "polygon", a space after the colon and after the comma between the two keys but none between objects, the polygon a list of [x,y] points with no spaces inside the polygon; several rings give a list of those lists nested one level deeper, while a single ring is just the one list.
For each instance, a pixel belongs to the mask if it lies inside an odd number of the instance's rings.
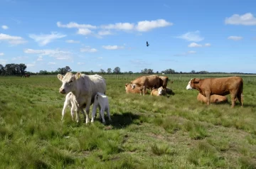
[{"label": "long flat cloud low in the sky above white cow's head", "polygon": [[43,56],[43,55],[48,55],[50,57],[53,57],[57,60],[70,60],[72,57],[72,53],[68,52],[68,51],[63,51],[63,50],[50,50],[50,49],[46,49],[46,50],[34,50],[34,49],[25,49],[23,50],[24,53],[28,53],[28,54],[38,54],[39,56]]}]

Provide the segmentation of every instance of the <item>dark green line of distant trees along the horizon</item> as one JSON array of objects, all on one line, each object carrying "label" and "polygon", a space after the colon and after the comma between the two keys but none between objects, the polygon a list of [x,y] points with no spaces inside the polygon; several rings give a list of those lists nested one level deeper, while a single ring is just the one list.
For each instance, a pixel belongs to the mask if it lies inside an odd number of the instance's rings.
[{"label": "dark green line of distant trees along the horizon", "polygon": [[[72,72],[72,70],[70,69],[69,66],[65,66],[65,67],[59,67],[57,70],[55,71],[51,71],[48,72],[47,70],[40,70],[39,72],[28,72],[26,71],[27,66],[23,63],[20,64],[15,64],[15,63],[11,63],[11,64],[6,64],[5,66],[0,64],[0,75],[2,76],[9,76],[9,75],[57,75],[57,74],[62,74],[65,75],[66,72]],[[73,72],[75,73],[75,72]],[[88,72],[84,72],[82,71],[82,73],[86,74],[86,75],[94,75],[94,74],[99,74],[99,75],[151,75],[151,74],[248,74],[248,75],[252,75],[252,73],[241,73],[241,72],[208,72],[208,71],[199,71],[196,72],[195,70],[191,70],[191,72],[176,72],[175,70],[172,69],[166,69],[163,70],[161,72],[156,71],[154,72],[154,70],[152,69],[147,69],[145,68],[144,70],[141,70],[141,72],[132,72],[132,71],[128,71],[128,72],[121,72],[120,67],[114,67],[114,69],[112,70],[111,68],[107,68],[107,70],[103,70],[100,69],[99,72],[94,72],[92,70],[88,71]]]}]

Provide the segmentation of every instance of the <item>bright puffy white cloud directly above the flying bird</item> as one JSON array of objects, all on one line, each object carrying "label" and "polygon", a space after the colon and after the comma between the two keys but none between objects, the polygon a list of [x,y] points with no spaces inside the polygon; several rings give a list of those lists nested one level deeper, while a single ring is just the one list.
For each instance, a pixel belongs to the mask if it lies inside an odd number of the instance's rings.
[{"label": "bright puffy white cloud directly above the flying bird", "polygon": [[137,23],[136,29],[140,32],[150,31],[154,28],[161,28],[166,26],[172,26],[173,23],[167,22],[164,19],[158,19],[155,21],[139,21]]}]

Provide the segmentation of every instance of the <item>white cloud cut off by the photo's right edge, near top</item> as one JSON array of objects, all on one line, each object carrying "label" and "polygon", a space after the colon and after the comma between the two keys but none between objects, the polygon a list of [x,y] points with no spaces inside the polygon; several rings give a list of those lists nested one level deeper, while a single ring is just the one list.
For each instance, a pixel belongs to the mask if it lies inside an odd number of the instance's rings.
[{"label": "white cloud cut off by the photo's right edge, near top", "polygon": [[252,15],[252,13],[245,13],[241,16],[234,14],[233,16],[230,16],[230,18],[225,18],[225,24],[255,26],[256,18]]}]

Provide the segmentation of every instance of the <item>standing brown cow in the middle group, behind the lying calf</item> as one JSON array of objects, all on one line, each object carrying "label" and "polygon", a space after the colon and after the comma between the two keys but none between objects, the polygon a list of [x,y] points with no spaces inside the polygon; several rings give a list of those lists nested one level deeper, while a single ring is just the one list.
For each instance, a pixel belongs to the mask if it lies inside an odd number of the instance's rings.
[{"label": "standing brown cow in the middle group, behind the lying calf", "polygon": [[149,75],[149,76],[141,76],[138,77],[136,80],[132,80],[130,82],[132,89],[134,89],[136,86],[139,87],[141,90],[141,93],[143,92],[143,95],[146,94],[146,89],[153,89],[153,88],[159,88],[160,87],[160,78],[157,75]]}]

